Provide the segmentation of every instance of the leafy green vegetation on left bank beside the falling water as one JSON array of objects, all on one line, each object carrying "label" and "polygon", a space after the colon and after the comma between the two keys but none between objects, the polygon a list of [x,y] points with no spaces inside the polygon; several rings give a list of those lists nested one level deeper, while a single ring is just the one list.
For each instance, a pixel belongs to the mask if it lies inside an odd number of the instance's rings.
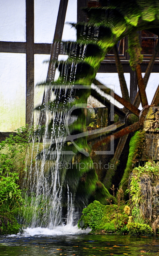
[{"label": "leafy green vegetation on left bank beside the falling water", "polygon": [[25,171],[25,157],[33,128],[21,127],[16,135],[0,142],[0,234],[16,234],[21,225],[14,218],[24,199],[19,177]]}]

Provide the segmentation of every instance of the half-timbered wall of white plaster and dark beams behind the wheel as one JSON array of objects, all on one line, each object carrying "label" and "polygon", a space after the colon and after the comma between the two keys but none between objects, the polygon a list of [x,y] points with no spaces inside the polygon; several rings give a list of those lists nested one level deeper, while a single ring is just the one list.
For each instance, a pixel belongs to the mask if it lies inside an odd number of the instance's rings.
[{"label": "half-timbered wall of white plaster and dark beams behind the wheel", "polygon": [[[0,132],[13,132],[25,123],[30,123],[33,120],[33,107],[42,102],[43,91],[35,85],[45,81],[47,77],[48,63],[44,64],[43,61],[49,60],[59,3],[60,0],[1,1]],[[87,0],[69,0],[62,40],[76,41],[76,30],[66,22],[86,21],[87,17],[81,11],[82,6],[87,6]],[[66,58],[65,55],[59,55],[59,60]],[[122,62],[129,89],[134,78],[128,61]],[[144,61],[141,64],[143,72],[146,67],[147,63]],[[146,89],[148,102],[151,101],[158,86],[158,62],[154,65],[153,72]],[[57,76],[58,72],[55,78]],[[113,60],[107,59],[101,63],[97,78],[107,86],[113,84],[115,92],[121,96]],[[36,120],[35,112],[34,123]]]}]

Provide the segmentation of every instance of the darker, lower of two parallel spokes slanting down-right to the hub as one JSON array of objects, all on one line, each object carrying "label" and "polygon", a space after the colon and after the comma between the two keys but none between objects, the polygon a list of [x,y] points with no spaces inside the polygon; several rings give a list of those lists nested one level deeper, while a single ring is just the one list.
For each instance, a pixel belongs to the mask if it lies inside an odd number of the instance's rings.
[{"label": "darker, lower of two parallel spokes slanting down-right to the hub", "polygon": [[[110,101],[107,100],[105,97],[101,96],[96,90],[91,89],[91,96],[93,96],[96,100],[101,102],[107,108],[110,108]],[[117,114],[120,117],[125,117],[126,116],[125,113],[120,108],[116,107],[115,105],[113,105],[113,107],[114,107],[115,114]]]}]

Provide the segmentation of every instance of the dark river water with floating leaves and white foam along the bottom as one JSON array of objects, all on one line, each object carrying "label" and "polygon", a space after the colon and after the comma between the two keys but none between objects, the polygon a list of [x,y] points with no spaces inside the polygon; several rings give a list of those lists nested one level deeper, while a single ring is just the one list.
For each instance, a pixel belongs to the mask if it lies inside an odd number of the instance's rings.
[{"label": "dark river water with floating leaves and white foam along the bottom", "polygon": [[69,226],[61,226],[54,230],[27,228],[23,235],[0,236],[0,255],[159,255],[158,237],[137,238],[119,235],[93,235],[84,232],[77,227]]}]

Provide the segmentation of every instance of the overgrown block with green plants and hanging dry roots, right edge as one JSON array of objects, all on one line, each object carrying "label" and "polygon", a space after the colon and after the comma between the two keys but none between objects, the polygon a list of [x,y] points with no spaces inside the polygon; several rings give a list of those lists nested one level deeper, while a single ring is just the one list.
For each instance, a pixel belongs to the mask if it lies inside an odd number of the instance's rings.
[{"label": "overgrown block with green plants and hanging dry roots, right edge", "polygon": [[131,200],[133,222],[149,223],[153,231],[158,230],[158,163],[149,161],[144,166],[134,168],[131,183],[126,190]]}]

